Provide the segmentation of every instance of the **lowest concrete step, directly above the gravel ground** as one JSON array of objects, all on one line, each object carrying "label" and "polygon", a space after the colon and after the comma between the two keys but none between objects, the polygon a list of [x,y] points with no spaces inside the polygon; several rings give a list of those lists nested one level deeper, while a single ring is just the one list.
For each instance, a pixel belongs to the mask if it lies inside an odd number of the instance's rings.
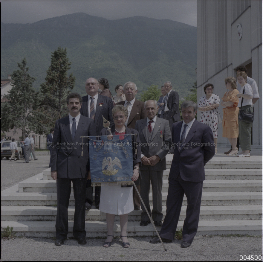
[{"label": "lowest concrete step, directly above the gravel ground", "polygon": [[[178,229],[183,227],[184,221],[178,222]],[[7,226],[13,227],[16,236],[26,237],[55,237],[55,221],[2,221],[1,231]],[[68,223],[68,237],[73,237],[73,221]],[[107,226],[104,221],[86,221],[86,237],[106,237]],[[160,227],[157,227],[160,230]],[[262,234],[261,220],[211,220],[199,221],[197,235],[215,234]],[[114,235],[120,236],[120,223],[114,222]],[[139,221],[129,221],[127,236],[155,236],[156,232],[152,226],[140,226]],[[116,240],[114,239],[114,242]],[[102,240],[103,243],[103,240]],[[150,244],[149,244],[150,245]]]}]

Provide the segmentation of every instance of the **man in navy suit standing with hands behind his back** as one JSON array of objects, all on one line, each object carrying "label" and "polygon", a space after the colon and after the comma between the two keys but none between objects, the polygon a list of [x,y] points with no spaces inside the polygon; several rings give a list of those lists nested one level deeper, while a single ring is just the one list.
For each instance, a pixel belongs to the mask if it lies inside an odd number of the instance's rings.
[{"label": "man in navy suit standing with hands behind his back", "polygon": [[[213,133],[210,127],[195,120],[197,104],[181,104],[183,121],[172,126],[174,156],[169,173],[166,216],[160,231],[164,242],[172,242],[179,220],[184,194],[187,198],[186,218],[183,226],[182,248],[189,247],[199,222],[204,165],[215,155]],[[159,238],[150,240],[159,243]]]}]

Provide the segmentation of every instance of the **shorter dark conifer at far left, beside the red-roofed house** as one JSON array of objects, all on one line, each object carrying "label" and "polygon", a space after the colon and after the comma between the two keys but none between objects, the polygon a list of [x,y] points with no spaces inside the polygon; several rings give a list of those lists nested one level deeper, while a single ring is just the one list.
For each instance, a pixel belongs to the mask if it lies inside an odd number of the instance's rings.
[{"label": "shorter dark conifer at far left, beside the red-roofed house", "polygon": [[1,130],[9,131],[14,127],[26,132],[35,131],[35,115],[39,104],[38,93],[33,89],[35,80],[28,74],[26,58],[18,64],[18,70],[13,71],[13,87],[8,95],[4,95],[6,102],[1,103]]}]

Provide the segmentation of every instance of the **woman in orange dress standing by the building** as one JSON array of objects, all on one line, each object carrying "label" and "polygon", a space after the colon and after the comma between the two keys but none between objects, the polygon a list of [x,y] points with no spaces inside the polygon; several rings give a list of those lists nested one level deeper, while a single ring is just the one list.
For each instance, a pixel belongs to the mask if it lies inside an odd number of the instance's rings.
[{"label": "woman in orange dress standing by the building", "polygon": [[226,88],[229,90],[222,97],[223,108],[223,137],[227,137],[230,144],[232,145],[232,151],[227,154],[227,156],[236,156],[238,153],[238,148],[236,147],[236,142],[238,138],[238,102],[239,99],[237,94],[239,94],[236,85],[235,77],[227,77],[225,79]]}]

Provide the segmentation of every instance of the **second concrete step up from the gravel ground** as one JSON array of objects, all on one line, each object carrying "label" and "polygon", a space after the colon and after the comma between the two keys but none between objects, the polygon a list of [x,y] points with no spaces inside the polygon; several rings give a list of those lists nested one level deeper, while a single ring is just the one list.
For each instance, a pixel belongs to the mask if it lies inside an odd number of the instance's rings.
[{"label": "second concrete step up from the gravel ground", "polygon": [[[152,207],[151,207],[152,210]],[[2,206],[2,221],[56,221],[57,208],[53,206]],[[74,206],[68,208],[68,220],[74,220]],[[140,221],[142,210],[129,213],[129,221]],[[166,206],[163,206],[163,219]],[[186,206],[182,206],[179,220],[184,220]],[[261,205],[201,206],[200,220],[262,220]],[[105,213],[98,209],[86,211],[86,221],[106,221]],[[115,221],[120,221],[119,216]]]}]

